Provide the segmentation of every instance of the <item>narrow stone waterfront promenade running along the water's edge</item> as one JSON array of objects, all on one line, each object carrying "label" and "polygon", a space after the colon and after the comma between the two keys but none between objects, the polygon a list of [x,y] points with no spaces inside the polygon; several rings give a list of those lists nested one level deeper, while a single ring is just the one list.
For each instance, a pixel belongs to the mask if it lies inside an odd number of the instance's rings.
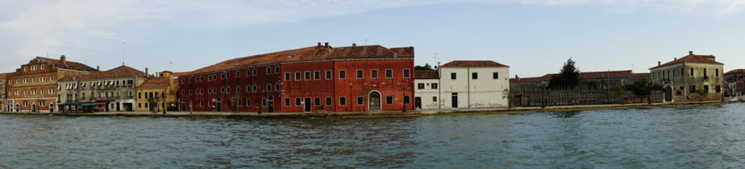
[{"label": "narrow stone waterfront promenade running along the water's edge", "polygon": [[687,103],[633,103],[603,104],[577,106],[514,107],[490,109],[430,109],[381,112],[92,112],[92,113],[59,113],[59,112],[0,112],[0,114],[22,115],[73,115],[73,116],[125,116],[125,117],[172,117],[172,118],[375,118],[375,117],[410,117],[422,115],[479,115],[479,114],[514,114],[521,112],[566,112],[589,109],[631,109],[662,106],[688,106],[735,103],[732,101],[687,102]]}]

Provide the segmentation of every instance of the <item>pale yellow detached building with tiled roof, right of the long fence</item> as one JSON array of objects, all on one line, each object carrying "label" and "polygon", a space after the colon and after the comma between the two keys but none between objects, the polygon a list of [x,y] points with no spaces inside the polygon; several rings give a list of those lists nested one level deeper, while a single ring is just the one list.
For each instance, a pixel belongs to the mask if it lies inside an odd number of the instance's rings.
[{"label": "pale yellow detached building with tiled roof, right of the long fence", "polygon": [[[654,83],[665,87],[665,102],[720,101],[723,99],[723,63],[718,63],[714,55],[697,55],[693,51],[688,56],[650,68]],[[695,94],[703,89],[707,95]]]}]

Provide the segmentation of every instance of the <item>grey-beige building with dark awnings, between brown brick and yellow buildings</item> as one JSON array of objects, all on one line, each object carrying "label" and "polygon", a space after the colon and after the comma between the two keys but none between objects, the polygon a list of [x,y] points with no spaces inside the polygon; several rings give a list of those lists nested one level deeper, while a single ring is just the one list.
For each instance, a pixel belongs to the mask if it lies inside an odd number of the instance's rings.
[{"label": "grey-beige building with dark awnings, between brown brick and yellow buildings", "polygon": [[147,73],[119,66],[107,71],[95,71],[60,79],[60,109],[79,110],[92,106],[94,112],[130,112],[134,110],[135,92],[147,80]]}]

